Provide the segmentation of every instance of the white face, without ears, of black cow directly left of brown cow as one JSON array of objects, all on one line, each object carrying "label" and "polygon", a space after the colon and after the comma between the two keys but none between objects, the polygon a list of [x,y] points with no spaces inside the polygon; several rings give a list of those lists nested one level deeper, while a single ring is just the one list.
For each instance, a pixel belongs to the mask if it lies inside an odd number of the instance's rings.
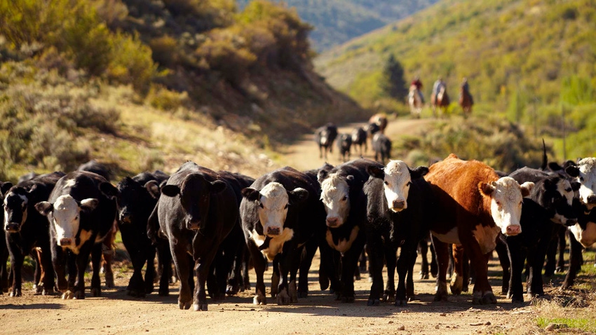
[{"label": "white face, without ears, of black cow directly left of brown cow", "polygon": [[407,209],[407,196],[412,185],[412,177],[406,163],[391,160],[384,168],[384,189],[387,207],[393,212]]}]

